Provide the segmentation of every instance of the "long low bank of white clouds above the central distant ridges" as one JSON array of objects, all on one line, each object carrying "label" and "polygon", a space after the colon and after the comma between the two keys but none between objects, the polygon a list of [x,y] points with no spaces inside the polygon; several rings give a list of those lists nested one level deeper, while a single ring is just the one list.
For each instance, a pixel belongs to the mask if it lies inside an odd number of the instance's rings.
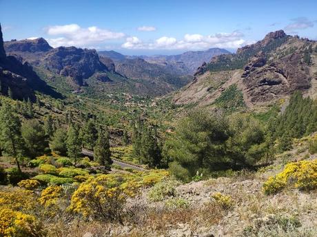
[{"label": "long low bank of white clouds above the central distant ridges", "polygon": [[210,47],[238,48],[245,45],[241,32],[218,33],[203,36],[201,34],[185,34],[183,39],[163,36],[152,42],[143,42],[136,36],[129,37],[121,45],[125,49],[208,49]]}]

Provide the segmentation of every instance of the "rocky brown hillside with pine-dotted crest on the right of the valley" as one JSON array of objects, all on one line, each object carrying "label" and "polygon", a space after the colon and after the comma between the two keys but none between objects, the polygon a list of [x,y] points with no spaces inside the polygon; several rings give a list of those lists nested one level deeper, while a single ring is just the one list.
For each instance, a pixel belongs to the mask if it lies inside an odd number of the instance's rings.
[{"label": "rocky brown hillside with pine-dotted crest on the right of the valley", "polygon": [[283,31],[215,56],[196,71],[194,81],[174,95],[176,104],[214,104],[232,85],[243,93],[247,106],[285,98],[296,90],[316,94],[317,43]]}]

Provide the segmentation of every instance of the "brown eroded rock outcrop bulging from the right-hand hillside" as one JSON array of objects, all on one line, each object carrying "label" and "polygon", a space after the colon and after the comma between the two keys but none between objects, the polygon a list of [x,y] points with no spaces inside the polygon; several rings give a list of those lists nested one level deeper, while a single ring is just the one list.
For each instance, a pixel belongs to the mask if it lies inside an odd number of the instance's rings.
[{"label": "brown eroded rock outcrop bulging from the right-hand hillside", "polygon": [[265,65],[263,56],[254,56],[242,76],[252,102],[269,101],[309,89],[311,78],[302,58],[302,54],[294,53]]}]

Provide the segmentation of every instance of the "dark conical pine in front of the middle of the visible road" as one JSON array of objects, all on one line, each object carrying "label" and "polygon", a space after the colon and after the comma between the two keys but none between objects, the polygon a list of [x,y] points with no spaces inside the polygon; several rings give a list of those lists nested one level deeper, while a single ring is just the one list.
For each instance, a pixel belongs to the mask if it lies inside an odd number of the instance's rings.
[{"label": "dark conical pine in front of the middle of the visible road", "polygon": [[94,147],[94,160],[107,169],[110,169],[113,163],[111,159],[108,129],[106,131],[103,131],[101,128],[99,129],[98,139]]}]

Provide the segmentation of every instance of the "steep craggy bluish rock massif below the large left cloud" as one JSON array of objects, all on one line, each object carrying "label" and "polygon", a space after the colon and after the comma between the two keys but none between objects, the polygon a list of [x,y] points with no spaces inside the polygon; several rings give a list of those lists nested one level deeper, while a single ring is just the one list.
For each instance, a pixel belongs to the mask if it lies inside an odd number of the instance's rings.
[{"label": "steep craggy bluish rock massif below the large left cloud", "polygon": [[41,60],[41,65],[62,76],[70,76],[79,86],[83,85],[83,79],[96,71],[107,71],[107,67],[99,61],[96,50],[76,47],[51,49]]}]

